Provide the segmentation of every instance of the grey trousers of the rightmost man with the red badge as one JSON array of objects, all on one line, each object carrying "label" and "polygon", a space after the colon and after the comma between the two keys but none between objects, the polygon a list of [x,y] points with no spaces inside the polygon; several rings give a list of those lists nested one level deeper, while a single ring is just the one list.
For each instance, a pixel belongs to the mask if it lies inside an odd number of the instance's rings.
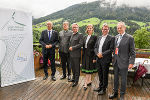
[{"label": "grey trousers of the rightmost man with the red badge", "polygon": [[128,67],[120,69],[118,67],[118,63],[116,62],[114,64],[114,92],[116,93],[118,93],[118,88],[119,88],[119,74],[121,76],[120,95],[123,95],[125,94],[126,91]]}]

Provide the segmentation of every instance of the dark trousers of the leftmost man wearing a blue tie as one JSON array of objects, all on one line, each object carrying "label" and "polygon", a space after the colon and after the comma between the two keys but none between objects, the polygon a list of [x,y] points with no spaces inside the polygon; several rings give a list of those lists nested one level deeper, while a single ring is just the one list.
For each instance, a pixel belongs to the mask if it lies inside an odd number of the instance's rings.
[{"label": "dark trousers of the leftmost man wearing a blue tie", "polygon": [[51,51],[47,51],[46,53],[43,54],[43,67],[44,67],[44,73],[45,76],[48,76],[48,59],[51,62],[51,71],[52,71],[52,76],[55,76],[56,68],[55,68],[55,52],[51,53]]}]

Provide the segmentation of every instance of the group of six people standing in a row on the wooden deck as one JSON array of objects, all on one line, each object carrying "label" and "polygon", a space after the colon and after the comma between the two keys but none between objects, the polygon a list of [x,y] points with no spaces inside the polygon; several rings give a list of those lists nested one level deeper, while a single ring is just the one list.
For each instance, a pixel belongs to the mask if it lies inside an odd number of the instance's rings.
[{"label": "group of six people standing in a row on the wooden deck", "polygon": [[[124,99],[126,91],[126,82],[128,69],[133,67],[135,61],[135,46],[134,39],[131,35],[125,32],[126,26],[124,22],[118,22],[118,35],[113,37],[109,35],[109,26],[104,23],[102,26],[102,36],[94,35],[94,26],[87,25],[86,36],[79,33],[77,23],[72,24],[72,31],[69,30],[69,22],[63,22],[63,30],[59,34],[52,29],[53,23],[47,22],[47,30],[42,31],[39,42],[42,45],[43,67],[45,76],[43,80],[48,78],[48,59],[51,61],[51,79],[55,78],[55,46],[59,44],[59,55],[62,63],[63,75],[61,80],[68,78],[72,82],[72,87],[78,85],[80,69],[85,73],[84,90],[92,84],[92,73],[98,71],[99,87],[94,91],[99,95],[106,93],[108,86],[109,66],[112,62],[114,66],[114,88],[109,99],[118,96],[119,75],[121,76],[120,100]],[[81,55],[81,47],[83,53]],[[82,66],[80,61],[82,56]],[[66,75],[67,69],[67,75]],[[72,70],[72,77],[71,77]]]}]

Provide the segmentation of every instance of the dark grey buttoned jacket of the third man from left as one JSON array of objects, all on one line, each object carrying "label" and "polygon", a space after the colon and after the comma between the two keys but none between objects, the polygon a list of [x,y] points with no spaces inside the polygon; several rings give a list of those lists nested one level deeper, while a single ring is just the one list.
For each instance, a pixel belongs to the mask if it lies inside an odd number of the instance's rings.
[{"label": "dark grey buttoned jacket of the third man from left", "polygon": [[70,51],[70,57],[81,57],[82,45],[83,45],[82,34],[81,33],[72,34],[69,44],[69,47],[72,47],[72,51]]}]

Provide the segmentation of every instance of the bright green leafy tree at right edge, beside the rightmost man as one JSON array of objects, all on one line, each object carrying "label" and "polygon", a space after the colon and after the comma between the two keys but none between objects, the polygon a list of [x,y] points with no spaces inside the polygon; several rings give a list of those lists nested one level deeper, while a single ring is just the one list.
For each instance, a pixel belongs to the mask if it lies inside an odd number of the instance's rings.
[{"label": "bright green leafy tree at right edge, beside the rightmost man", "polygon": [[150,48],[150,32],[146,28],[135,31],[134,35],[135,47],[139,49]]}]

